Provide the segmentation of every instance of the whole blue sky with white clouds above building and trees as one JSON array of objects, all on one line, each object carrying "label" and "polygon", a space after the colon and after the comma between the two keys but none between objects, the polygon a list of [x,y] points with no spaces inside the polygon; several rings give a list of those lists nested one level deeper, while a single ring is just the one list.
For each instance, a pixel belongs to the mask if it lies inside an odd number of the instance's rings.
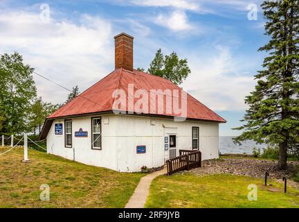
[{"label": "whole blue sky with white clouds above building and trees", "polygon": [[[41,17],[46,3],[50,17]],[[147,69],[156,50],[187,58],[185,91],[224,117],[220,135],[239,135],[266,56],[261,1],[0,1],[0,53],[18,51],[35,70],[83,91],[114,69],[114,35],[134,36],[134,67]],[[255,4],[255,5],[252,5]],[[257,19],[248,12],[257,6]],[[249,8],[248,8],[249,7]],[[44,14],[42,14],[44,15]],[[35,76],[46,101],[65,101],[67,91]]]}]

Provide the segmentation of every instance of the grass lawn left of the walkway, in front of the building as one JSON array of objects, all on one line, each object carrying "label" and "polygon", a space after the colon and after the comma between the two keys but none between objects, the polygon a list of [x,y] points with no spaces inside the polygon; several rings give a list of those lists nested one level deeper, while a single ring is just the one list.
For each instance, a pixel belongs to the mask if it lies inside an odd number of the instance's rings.
[{"label": "grass lawn left of the walkway, in front of the building", "polygon": [[[9,147],[0,148],[0,153]],[[0,155],[0,207],[124,207],[142,173],[118,173],[62,157],[23,149]],[[40,185],[50,186],[50,200],[39,198]]]}]

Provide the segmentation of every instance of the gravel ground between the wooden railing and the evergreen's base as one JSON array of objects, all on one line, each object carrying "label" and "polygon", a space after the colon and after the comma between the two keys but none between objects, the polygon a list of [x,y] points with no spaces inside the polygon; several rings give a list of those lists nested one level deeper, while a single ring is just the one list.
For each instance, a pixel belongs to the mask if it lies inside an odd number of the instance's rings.
[{"label": "gravel ground between the wooden railing and the evergreen's base", "polygon": [[[291,178],[293,170],[299,167],[299,162],[288,162],[288,168],[284,171],[277,170],[278,162],[275,160],[257,160],[251,158],[221,158],[219,160],[203,160],[201,168],[192,169],[192,173],[207,175],[215,173],[230,173],[239,176],[264,178],[265,172],[269,172],[270,178],[282,180],[282,177]],[[298,182],[289,180],[289,183],[299,187]]]}]

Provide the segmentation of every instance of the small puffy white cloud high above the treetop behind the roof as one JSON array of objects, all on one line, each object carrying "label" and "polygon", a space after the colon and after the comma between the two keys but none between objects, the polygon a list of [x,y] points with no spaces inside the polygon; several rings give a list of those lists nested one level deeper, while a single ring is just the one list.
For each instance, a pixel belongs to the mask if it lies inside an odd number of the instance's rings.
[{"label": "small puffy white cloud high above the treetop behind the roof", "polygon": [[185,12],[176,10],[170,15],[160,14],[154,22],[160,26],[165,26],[172,31],[188,31],[194,27],[188,23],[188,17]]}]

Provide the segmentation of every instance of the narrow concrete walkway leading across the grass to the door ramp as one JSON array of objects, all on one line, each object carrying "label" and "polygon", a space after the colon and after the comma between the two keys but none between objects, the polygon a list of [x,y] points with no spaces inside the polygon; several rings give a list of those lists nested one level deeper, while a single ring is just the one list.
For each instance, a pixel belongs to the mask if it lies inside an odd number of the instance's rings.
[{"label": "narrow concrete walkway leading across the grass to the door ramp", "polygon": [[150,173],[149,175],[141,178],[141,181],[138,183],[134,191],[134,194],[129,199],[127,205],[125,205],[125,208],[143,208],[149,194],[149,186],[152,183],[152,180],[165,173],[167,173],[166,168],[162,169],[161,171]]}]

